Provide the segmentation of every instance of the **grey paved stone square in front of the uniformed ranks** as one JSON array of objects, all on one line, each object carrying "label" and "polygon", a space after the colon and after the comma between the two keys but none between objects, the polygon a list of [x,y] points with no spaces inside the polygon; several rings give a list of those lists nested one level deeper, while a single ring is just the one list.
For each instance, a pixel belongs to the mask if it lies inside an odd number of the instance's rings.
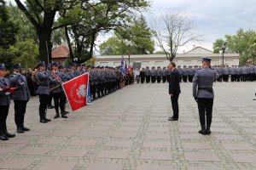
[{"label": "grey paved stone square in front of the uniformed ranks", "polygon": [[[214,84],[212,134],[200,123],[192,84],[182,83],[178,122],[168,84],[134,84],[98,99],[68,119],[39,123],[38,99],[27,105],[32,130],[0,141],[0,169],[231,170],[256,168],[256,82]],[[10,105],[8,129],[15,133]]]}]

